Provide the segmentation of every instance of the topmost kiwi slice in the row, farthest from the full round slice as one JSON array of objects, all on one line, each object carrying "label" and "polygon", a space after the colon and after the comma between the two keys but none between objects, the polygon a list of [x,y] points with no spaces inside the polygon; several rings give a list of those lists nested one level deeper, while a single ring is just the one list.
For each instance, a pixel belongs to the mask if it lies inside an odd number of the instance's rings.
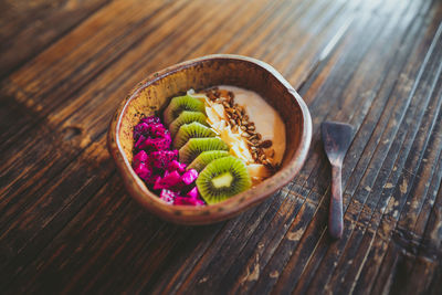
[{"label": "topmost kiwi slice in the row, farthest from the full round slice", "polygon": [[183,110],[201,112],[204,113],[204,103],[198,98],[189,95],[173,97],[169,105],[162,113],[165,124],[169,125],[175,120]]}]

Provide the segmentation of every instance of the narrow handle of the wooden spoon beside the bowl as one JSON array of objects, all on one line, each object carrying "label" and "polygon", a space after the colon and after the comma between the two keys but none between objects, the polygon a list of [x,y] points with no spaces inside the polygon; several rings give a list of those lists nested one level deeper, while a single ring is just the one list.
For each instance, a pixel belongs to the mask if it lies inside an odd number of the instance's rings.
[{"label": "narrow handle of the wooden spoon beside the bowl", "polygon": [[328,232],[334,239],[343,235],[343,188],[341,188],[341,166],[332,166],[332,198],[330,212],[328,215]]}]

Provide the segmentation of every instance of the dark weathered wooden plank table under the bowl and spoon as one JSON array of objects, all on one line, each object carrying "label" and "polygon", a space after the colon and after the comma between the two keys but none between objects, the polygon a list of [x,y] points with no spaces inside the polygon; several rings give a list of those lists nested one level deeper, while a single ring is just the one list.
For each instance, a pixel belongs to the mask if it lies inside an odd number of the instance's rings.
[{"label": "dark weathered wooden plank table under the bowl and spoon", "polygon": [[[2,294],[441,294],[441,1],[0,8]],[[274,65],[311,109],[312,148],[261,206],[213,225],[175,225],[128,197],[107,125],[149,73],[210,53]],[[325,119],[356,127],[336,242]]]}]

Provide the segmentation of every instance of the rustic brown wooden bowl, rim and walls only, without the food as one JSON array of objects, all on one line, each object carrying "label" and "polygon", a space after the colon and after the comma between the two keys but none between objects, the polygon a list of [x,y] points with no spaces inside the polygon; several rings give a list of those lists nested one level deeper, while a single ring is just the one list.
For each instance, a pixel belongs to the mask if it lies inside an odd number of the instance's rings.
[{"label": "rustic brown wooden bowl, rim and walls only, without the food", "polygon": [[[159,114],[169,99],[189,88],[234,85],[261,94],[282,116],[286,150],[281,169],[259,186],[218,204],[170,206],[145,186],[131,169],[133,128],[140,114]],[[127,96],[110,122],[107,145],[123,181],[143,207],[182,224],[208,224],[238,215],[288,183],[303,166],[312,140],[312,118],[296,91],[269,64],[245,56],[215,54],[172,65],[154,73]]]}]

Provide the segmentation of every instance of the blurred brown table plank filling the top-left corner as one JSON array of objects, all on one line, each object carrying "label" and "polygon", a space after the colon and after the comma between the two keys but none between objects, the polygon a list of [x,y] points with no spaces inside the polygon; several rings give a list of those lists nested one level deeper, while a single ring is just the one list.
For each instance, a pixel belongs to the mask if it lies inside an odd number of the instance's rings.
[{"label": "blurred brown table plank filling the top-left corner", "polygon": [[23,65],[108,2],[2,1],[0,78]]}]

